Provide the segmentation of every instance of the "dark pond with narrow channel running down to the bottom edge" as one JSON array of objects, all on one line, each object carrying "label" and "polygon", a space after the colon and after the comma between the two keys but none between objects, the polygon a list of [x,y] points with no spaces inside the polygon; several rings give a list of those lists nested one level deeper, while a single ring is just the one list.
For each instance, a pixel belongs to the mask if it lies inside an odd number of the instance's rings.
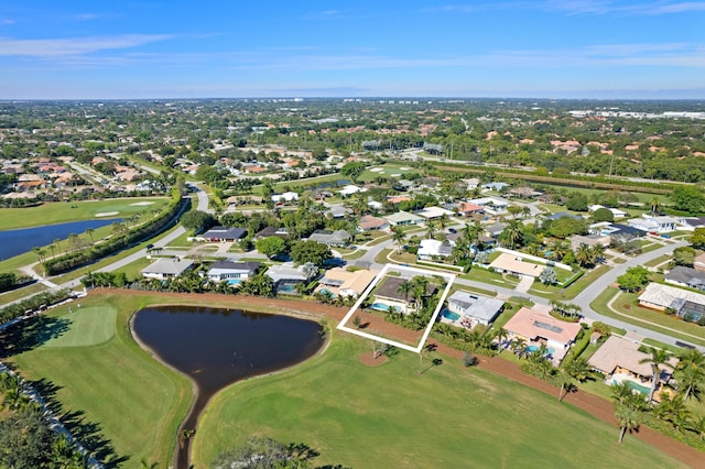
[{"label": "dark pond with narrow channel running down to the bottom edge", "polygon": [[[321,326],[311,320],[197,306],[141,309],[134,315],[132,330],[197,388],[182,430],[196,428],[206,404],[223,388],[300,363],[324,343]],[[187,468],[188,459],[186,441],[178,448],[176,468]]]}]

